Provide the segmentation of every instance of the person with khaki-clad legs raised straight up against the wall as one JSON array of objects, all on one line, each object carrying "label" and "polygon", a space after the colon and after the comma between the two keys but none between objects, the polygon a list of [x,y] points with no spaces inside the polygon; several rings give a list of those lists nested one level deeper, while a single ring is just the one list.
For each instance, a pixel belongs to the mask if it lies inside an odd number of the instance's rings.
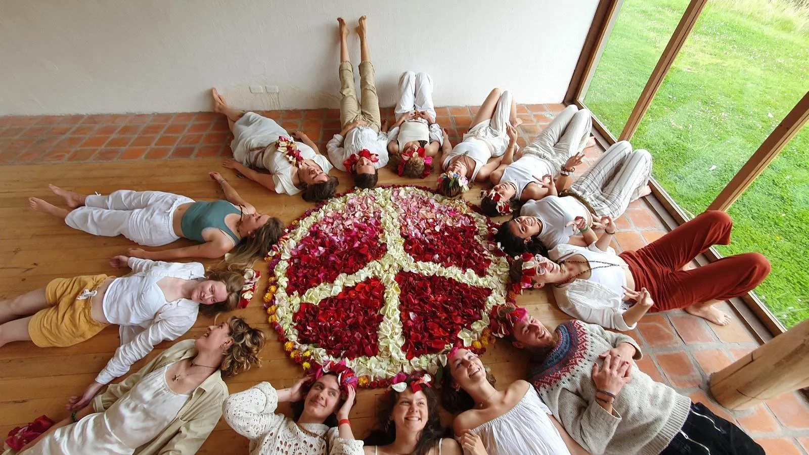
[{"label": "person with khaki-clad legs raised straight up against the wall", "polygon": [[342,130],[326,144],[328,159],[335,168],[354,176],[359,188],[374,188],[379,168],[388,164],[388,134],[382,131],[379,97],[374,85],[374,66],[368,47],[366,17],[359,18],[359,84],[362,100],[354,88],[354,68],[349,57],[349,29],[337,18],[340,32],[340,125]]}]

